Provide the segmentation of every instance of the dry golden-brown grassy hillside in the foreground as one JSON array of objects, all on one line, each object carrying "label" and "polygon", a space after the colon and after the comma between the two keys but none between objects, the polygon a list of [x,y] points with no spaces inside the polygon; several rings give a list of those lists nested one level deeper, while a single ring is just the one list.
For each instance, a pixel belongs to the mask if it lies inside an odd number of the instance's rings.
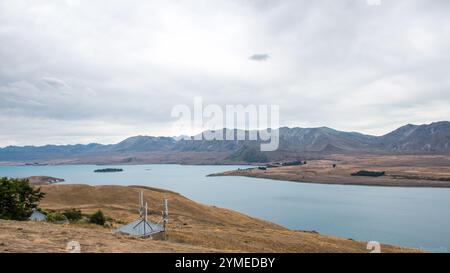
[{"label": "dry golden-brown grassy hillside in the foreground", "polygon": [[[54,225],[0,221],[0,252],[60,252],[77,240],[86,252],[368,252],[366,244],[310,232],[291,231],[243,214],[195,203],[177,193],[143,187],[49,185],[43,186],[47,209],[97,209],[116,220],[137,216],[138,192],[144,190],[151,213],[169,199],[168,240],[135,239],[114,235],[111,228],[92,225]],[[159,216],[152,216],[157,220]],[[385,252],[411,251],[382,246]]]}]

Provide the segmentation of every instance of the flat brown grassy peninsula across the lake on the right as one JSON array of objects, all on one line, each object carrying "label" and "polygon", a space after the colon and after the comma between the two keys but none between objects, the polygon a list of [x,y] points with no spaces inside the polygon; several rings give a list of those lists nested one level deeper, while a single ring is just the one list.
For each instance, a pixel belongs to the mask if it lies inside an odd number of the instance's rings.
[{"label": "flat brown grassy peninsula across the lake on the right", "polygon": [[[333,167],[336,164],[336,167]],[[385,171],[383,177],[351,176],[360,170]],[[236,175],[276,180],[394,187],[450,187],[450,156],[333,155],[302,166],[267,170],[235,170],[215,175]],[[439,181],[448,179],[449,181]]]}]

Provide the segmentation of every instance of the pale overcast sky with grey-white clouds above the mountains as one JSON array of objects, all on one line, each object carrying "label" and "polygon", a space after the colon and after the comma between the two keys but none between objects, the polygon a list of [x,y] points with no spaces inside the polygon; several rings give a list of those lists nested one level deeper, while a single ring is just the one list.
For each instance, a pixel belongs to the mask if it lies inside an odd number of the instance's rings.
[{"label": "pale overcast sky with grey-white clouds above the mountains", "polygon": [[450,1],[371,2],[2,0],[0,146],[172,135],[194,97],[376,135],[449,120]]}]

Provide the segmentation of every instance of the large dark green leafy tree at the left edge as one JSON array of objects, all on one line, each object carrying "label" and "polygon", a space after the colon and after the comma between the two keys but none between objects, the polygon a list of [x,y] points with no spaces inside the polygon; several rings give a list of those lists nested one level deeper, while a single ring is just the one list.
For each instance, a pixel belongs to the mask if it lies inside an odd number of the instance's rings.
[{"label": "large dark green leafy tree at the left edge", "polygon": [[0,218],[26,220],[44,197],[41,189],[34,189],[28,179],[0,178]]}]

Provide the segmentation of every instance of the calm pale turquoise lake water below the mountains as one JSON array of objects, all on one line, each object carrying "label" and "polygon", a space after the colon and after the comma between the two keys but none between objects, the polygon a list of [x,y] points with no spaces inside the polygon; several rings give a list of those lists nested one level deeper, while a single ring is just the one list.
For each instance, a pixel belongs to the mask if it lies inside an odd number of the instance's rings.
[{"label": "calm pale turquoise lake water below the mountains", "polygon": [[[98,168],[120,173],[94,173]],[[290,229],[450,251],[450,189],[316,185],[246,177],[206,177],[246,166],[0,166],[0,176],[48,175],[65,183],[146,185],[233,209]]]}]

